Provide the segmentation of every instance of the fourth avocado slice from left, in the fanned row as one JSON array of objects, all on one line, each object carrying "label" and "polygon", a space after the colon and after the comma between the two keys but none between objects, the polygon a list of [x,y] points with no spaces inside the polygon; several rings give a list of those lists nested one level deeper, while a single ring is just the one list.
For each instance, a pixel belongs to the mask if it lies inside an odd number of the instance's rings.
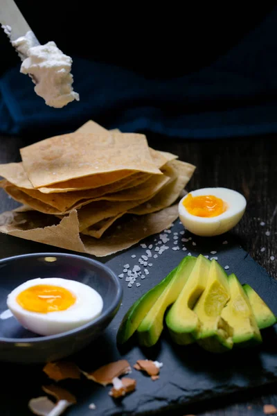
[{"label": "fourth avocado slice from left, in the fanned row", "polygon": [[201,322],[195,339],[210,352],[224,352],[233,347],[233,328],[220,316],[229,299],[228,276],[220,264],[212,260],[207,286],[193,309]]}]

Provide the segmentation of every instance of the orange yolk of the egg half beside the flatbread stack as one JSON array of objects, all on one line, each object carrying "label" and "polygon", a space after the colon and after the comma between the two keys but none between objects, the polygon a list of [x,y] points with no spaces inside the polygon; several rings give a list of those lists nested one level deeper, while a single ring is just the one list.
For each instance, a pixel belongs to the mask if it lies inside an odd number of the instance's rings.
[{"label": "orange yolk of the egg half beside the flatbread stack", "polygon": [[221,198],[213,195],[192,196],[191,193],[183,202],[186,210],[195,216],[211,218],[223,214],[227,204]]}]

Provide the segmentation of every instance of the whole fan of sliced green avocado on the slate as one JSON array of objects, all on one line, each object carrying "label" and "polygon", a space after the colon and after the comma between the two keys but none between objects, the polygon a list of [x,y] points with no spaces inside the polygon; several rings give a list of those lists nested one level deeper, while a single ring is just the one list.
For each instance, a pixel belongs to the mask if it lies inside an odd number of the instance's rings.
[{"label": "whole fan of sliced green avocado on the slate", "polygon": [[197,343],[222,353],[262,343],[260,330],[276,324],[277,317],[249,284],[240,284],[217,261],[199,254],[186,256],[129,308],[117,342],[123,344],[135,333],[141,347],[152,347],[164,322],[174,343]]}]

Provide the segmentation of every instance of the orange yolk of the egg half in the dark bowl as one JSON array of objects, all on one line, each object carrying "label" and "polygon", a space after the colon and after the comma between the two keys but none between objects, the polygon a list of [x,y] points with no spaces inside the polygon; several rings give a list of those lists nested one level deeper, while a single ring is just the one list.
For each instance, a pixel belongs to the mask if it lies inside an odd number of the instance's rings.
[{"label": "orange yolk of the egg half in the dark bowl", "polygon": [[17,295],[17,303],[26,311],[48,313],[65,311],[75,303],[76,297],[65,288],[38,284]]}]

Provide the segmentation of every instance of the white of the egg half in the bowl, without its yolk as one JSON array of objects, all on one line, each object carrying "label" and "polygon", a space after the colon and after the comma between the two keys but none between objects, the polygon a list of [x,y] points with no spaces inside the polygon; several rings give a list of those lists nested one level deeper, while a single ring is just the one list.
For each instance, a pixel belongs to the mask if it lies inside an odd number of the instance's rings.
[{"label": "white of the egg half in the bowl, without its yolk", "polygon": [[[48,284],[65,288],[75,295],[75,303],[64,311],[48,313],[26,311],[17,303],[17,295],[37,284]],[[31,279],[17,286],[8,295],[7,305],[8,309],[10,309],[24,328],[39,335],[49,336],[70,331],[91,322],[102,312],[103,301],[100,294],[86,284],[69,279],[49,277],[45,279]]]}]

